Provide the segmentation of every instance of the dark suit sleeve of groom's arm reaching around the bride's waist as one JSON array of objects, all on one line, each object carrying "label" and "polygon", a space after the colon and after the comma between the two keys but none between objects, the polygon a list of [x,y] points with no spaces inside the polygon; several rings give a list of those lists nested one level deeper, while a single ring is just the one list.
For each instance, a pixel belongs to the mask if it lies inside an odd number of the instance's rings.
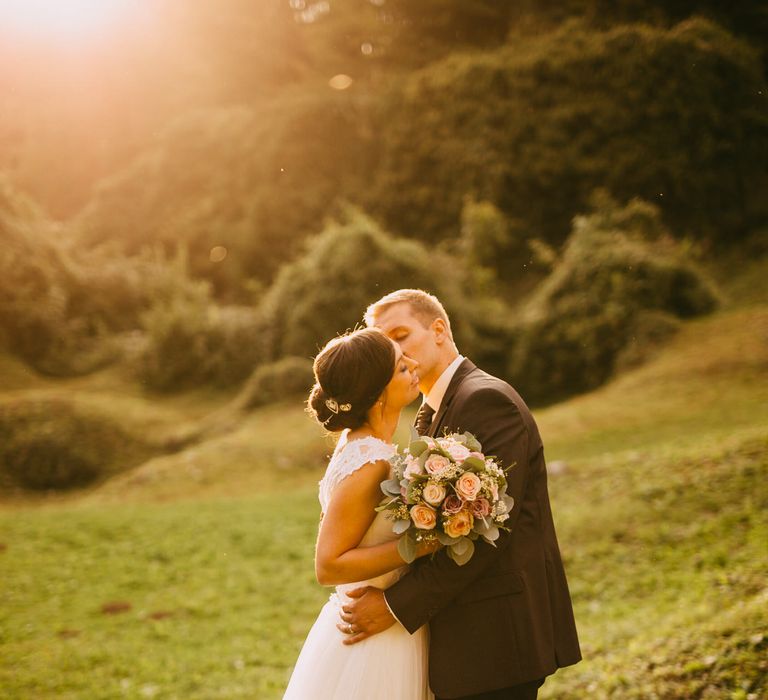
[{"label": "dark suit sleeve of groom's arm reaching around the bride's waist", "polygon": [[502,531],[496,547],[484,540],[475,541],[475,553],[463,566],[445,551],[418,562],[397,583],[385,591],[392,613],[411,633],[428,622],[465,588],[480,577],[509,543],[529,478],[529,434],[514,402],[493,388],[470,394],[461,407],[461,418],[452,425],[459,432],[469,431],[480,441],[486,455],[494,455],[503,468],[514,464],[507,473],[507,493],[515,505],[507,520],[510,531]]}]

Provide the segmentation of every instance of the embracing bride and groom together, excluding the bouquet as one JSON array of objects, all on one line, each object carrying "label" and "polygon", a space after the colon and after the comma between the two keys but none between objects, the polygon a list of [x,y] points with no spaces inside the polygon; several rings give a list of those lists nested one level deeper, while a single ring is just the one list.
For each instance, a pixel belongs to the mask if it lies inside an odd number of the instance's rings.
[{"label": "embracing bride and groom together, excluding the bouquet", "polygon": [[[517,392],[462,357],[437,298],[402,289],[367,328],[315,358],[308,405],[339,439],[320,481],[318,581],[335,586],[284,700],[529,700],[581,653],[536,423]],[[422,542],[407,565],[382,500],[401,410],[424,396],[422,435],[472,433],[514,506],[495,545],[459,566]]]}]

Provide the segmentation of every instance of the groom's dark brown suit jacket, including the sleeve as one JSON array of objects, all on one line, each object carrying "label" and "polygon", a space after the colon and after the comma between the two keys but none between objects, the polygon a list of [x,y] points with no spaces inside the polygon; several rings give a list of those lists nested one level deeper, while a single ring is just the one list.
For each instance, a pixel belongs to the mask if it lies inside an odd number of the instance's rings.
[{"label": "groom's dark brown suit jacket, including the sleeve", "polygon": [[581,652],[528,407],[509,384],[465,360],[429,434],[445,431],[469,431],[502,467],[515,465],[507,474],[510,532],[497,547],[477,541],[464,566],[445,552],[423,557],[385,593],[409,632],[429,623],[430,685],[456,698],[543,678]]}]

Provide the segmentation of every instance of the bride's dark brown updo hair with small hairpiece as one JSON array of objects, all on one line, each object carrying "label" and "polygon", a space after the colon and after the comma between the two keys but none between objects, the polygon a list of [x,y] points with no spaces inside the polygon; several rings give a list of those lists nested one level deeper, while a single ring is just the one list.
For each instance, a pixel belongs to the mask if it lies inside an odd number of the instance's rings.
[{"label": "bride's dark brown updo hair with small hairpiece", "polygon": [[315,385],[307,405],[331,432],[354,430],[395,373],[395,348],[376,328],[352,331],[329,341],[314,364]]}]

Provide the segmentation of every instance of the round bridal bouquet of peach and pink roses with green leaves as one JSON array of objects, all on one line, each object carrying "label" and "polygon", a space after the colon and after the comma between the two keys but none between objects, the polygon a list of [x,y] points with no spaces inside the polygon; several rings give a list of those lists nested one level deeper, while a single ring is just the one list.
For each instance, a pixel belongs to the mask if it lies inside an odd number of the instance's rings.
[{"label": "round bridal bouquet of peach and pink roses with green leaves", "polygon": [[394,520],[405,561],[416,558],[422,542],[439,541],[459,565],[470,560],[478,537],[496,546],[514,499],[506,494],[504,470],[482,453],[474,435],[414,434],[390,462],[392,478],[381,484],[387,498],[377,510]]}]

